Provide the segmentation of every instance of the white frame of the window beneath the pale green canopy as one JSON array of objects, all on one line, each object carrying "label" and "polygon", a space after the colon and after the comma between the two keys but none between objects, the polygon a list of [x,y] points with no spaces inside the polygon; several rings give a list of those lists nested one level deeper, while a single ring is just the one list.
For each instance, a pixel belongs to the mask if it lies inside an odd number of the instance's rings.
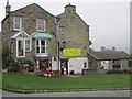
[{"label": "white frame of the window beneath the pale green canopy", "polygon": [[[36,41],[38,41],[40,53],[36,53]],[[41,41],[45,41],[45,53],[42,53],[41,51]],[[36,56],[47,56],[47,40],[35,40],[35,54]]]}]

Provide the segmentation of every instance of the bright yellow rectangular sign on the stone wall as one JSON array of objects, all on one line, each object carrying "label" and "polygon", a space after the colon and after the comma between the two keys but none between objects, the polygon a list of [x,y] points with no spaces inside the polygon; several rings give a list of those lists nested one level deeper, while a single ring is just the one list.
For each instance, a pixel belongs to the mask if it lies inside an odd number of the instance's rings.
[{"label": "bright yellow rectangular sign on the stone wall", "polygon": [[64,48],[63,56],[80,56],[81,50],[80,48]]}]

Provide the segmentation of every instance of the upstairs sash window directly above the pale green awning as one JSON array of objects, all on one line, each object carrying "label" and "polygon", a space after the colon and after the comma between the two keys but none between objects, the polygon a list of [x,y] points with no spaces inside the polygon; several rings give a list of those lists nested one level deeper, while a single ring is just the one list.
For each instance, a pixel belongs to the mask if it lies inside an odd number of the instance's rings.
[{"label": "upstairs sash window directly above the pale green awning", "polygon": [[44,19],[37,19],[36,20],[36,29],[40,32],[45,32],[45,28],[46,28],[46,22]]}]

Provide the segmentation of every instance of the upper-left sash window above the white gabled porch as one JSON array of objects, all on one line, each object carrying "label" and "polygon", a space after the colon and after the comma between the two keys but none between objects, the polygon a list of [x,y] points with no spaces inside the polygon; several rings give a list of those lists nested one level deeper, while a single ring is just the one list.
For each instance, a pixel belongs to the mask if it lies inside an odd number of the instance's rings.
[{"label": "upper-left sash window above the white gabled porch", "polygon": [[13,18],[13,26],[14,26],[14,30],[20,31],[22,29],[22,18],[14,16]]}]

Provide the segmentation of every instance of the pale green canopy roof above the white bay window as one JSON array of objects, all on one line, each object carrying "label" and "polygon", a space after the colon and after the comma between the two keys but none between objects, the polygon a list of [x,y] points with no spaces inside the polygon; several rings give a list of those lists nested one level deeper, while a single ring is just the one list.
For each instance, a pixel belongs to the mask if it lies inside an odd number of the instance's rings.
[{"label": "pale green canopy roof above the white bay window", "polygon": [[52,38],[52,35],[46,32],[34,32],[31,36],[33,38]]}]

